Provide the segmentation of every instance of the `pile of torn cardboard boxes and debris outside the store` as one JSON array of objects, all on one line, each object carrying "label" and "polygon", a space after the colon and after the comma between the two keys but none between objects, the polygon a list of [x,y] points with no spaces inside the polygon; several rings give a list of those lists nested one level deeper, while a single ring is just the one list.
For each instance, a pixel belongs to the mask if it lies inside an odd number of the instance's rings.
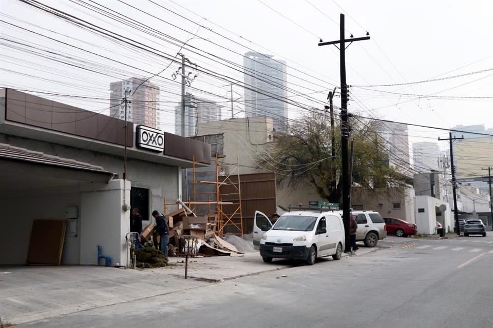
[{"label": "pile of torn cardboard boxes and debris outside the store", "polygon": [[[195,216],[192,211],[184,208],[168,213],[165,217],[169,227],[168,256],[181,256],[189,253],[190,250],[183,236],[196,236],[199,239],[199,242],[194,245],[197,249],[193,252],[198,256],[243,256],[243,253],[238,251],[234,245],[216,234],[215,224],[208,222],[207,217]],[[154,222],[144,228],[141,242],[144,245],[158,248],[158,236],[154,228]],[[136,254],[138,251],[140,250],[137,250]],[[137,262],[142,261],[137,258]]]}]

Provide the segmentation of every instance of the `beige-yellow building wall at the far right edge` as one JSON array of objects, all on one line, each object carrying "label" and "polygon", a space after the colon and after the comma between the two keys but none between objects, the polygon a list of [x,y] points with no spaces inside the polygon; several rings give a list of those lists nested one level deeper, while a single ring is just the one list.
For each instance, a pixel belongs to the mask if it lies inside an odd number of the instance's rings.
[{"label": "beige-yellow building wall at the far right edge", "polygon": [[453,159],[457,164],[457,178],[484,176],[487,172],[481,168],[493,162],[493,137],[454,141]]}]

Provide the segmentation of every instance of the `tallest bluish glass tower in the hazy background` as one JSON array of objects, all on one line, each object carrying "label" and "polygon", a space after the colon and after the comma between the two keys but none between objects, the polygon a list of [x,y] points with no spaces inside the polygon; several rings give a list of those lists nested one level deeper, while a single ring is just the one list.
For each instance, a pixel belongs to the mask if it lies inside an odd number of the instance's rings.
[{"label": "tallest bluish glass tower in the hazy background", "polygon": [[272,55],[247,52],[243,57],[245,84],[245,116],[271,117],[276,131],[288,125],[286,103],[286,61]]}]

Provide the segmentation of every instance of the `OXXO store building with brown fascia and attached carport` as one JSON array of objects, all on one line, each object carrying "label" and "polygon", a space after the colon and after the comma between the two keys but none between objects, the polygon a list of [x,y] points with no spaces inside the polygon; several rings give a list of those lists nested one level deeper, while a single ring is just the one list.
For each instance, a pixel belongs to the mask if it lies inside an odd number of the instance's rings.
[{"label": "OXXO store building with brown fascia and attached carport", "polygon": [[[181,168],[192,167],[193,157],[205,166],[200,160],[211,148],[129,123],[123,180],[123,126],[117,118],[0,90],[0,231],[8,232],[0,247],[12,250],[0,252],[0,264],[26,262],[34,219],[69,221],[62,264],[96,264],[97,245],[113,263],[127,264],[124,205],[138,207],[149,223],[165,198],[181,197]],[[67,217],[68,208],[76,214]]]}]

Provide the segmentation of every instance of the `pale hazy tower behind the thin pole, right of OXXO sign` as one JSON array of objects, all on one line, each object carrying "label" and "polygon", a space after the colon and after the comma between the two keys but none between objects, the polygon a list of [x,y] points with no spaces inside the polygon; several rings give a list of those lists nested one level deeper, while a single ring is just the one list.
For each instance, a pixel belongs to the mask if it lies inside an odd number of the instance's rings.
[{"label": "pale hazy tower behind the thin pole, right of OXXO sign", "polygon": [[195,136],[198,124],[221,120],[222,108],[223,106],[218,105],[216,101],[187,94],[185,96],[185,133],[181,132],[180,103],[175,107],[175,134],[184,137]]}]

